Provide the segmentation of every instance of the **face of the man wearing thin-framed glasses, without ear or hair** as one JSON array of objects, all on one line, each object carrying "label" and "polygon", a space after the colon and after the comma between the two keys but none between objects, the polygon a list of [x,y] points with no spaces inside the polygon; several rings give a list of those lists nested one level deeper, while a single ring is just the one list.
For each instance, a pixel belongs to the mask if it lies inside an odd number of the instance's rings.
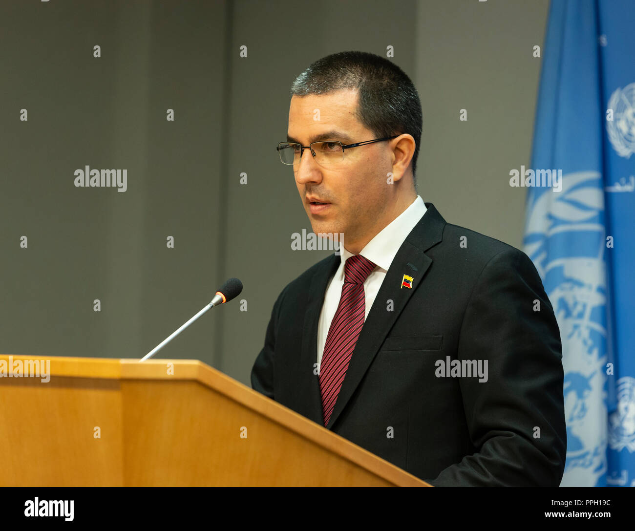
[{"label": "face of the man wearing thin-framed glasses, without ear or hair", "polygon": [[[291,97],[288,140],[309,145],[330,131],[333,134],[321,140],[342,144],[373,140],[375,135],[355,117],[357,104],[358,91],[352,89]],[[319,120],[314,119],[317,110]],[[358,253],[359,245],[368,243],[387,224],[384,211],[391,193],[387,184],[390,171],[391,142],[345,149],[343,165],[334,170],[319,166],[305,149],[293,172],[313,232],[344,233],[344,246]],[[326,205],[312,205],[312,201]]]}]

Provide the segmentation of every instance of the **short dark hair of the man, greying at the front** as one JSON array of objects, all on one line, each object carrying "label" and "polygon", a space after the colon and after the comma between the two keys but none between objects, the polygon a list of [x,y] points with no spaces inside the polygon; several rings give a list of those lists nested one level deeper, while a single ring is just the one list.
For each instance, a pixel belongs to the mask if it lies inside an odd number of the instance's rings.
[{"label": "short dark hair of the man, greying at the front", "polygon": [[[340,51],[311,64],[291,84],[291,96],[359,91],[356,118],[376,138],[408,133],[415,139],[412,172],[415,184],[423,115],[417,89],[396,64],[365,51]],[[368,139],[370,140],[370,138]]]}]

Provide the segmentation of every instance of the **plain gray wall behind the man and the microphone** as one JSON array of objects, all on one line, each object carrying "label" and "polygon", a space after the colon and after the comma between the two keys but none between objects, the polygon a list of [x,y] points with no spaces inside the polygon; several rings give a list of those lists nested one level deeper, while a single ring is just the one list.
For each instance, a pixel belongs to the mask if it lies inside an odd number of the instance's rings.
[{"label": "plain gray wall behind the man and the microphone", "polygon": [[[277,295],[328,254],[291,250],[311,225],[274,146],[293,77],[335,51],[394,46],[424,109],[419,193],[520,246],[525,191],[509,170],[529,162],[547,7],[1,3],[0,352],[138,358],[237,276],[248,311],[213,309],[157,356],[248,383]],[[86,165],[126,168],[128,190],[75,187]]]}]

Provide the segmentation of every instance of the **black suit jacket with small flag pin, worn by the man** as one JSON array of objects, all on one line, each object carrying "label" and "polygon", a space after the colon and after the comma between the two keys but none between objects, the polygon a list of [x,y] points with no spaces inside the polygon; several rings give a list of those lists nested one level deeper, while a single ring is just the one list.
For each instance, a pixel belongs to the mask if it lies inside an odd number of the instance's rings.
[{"label": "black suit jacket with small flag pin, worn by the man", "polygon": [[[432,485],[558,486],[562,351],[538,272],[525,253],[425,205],[366,318],[327,428]],[[318,319],[339,264],[331,255],[284,288],[251,372],[253,389],[322,426]],[[401,288],[404,274],[412,288]],[[439,377],[447,357],[487,360],[487,381]]]}]

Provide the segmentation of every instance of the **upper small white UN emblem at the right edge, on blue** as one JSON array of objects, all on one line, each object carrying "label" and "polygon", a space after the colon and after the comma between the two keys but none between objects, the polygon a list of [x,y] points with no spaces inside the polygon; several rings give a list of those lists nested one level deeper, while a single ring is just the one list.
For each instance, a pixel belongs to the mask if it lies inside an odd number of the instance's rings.
[{"label": "upper small white UN emblem at the right edge, on blue", "polygon": [[620,157],[629,159],[635,153],[635,83],[613,92],[608,109],[613,109],[613,119],[606,120],[608,139]]}]

